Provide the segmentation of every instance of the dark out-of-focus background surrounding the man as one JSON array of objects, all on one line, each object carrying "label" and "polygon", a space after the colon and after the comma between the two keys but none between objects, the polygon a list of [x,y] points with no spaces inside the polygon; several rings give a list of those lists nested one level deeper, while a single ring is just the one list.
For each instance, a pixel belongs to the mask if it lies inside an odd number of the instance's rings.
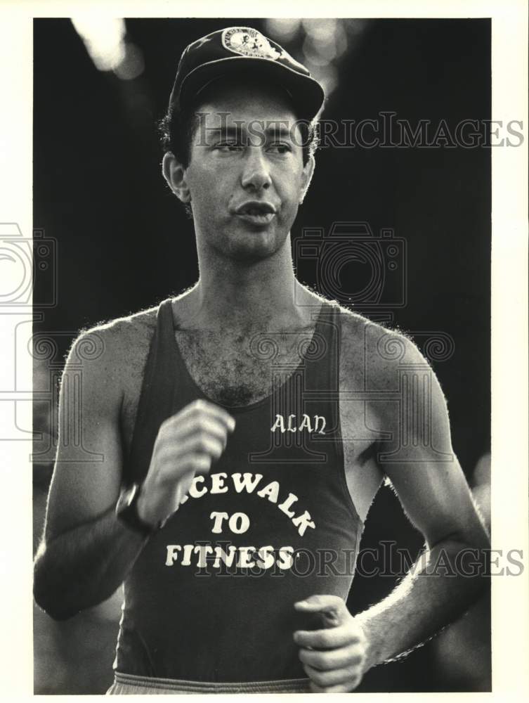
[{"label": "dark out-of-focus background surrounding the man", "polygon": [[[34,21],[34,228],[57,241],[58,280],[57,304],[43,309],[34,330],[55,338],[57,366],[79,328],[150,307],[197,280],[192,222],[162,179],[155,122],[181,51],[228,25],[267,33],[255,19],[126,20],[145,72],[122,81],[96,70],[70,20]],[[284,46],[303,60],[299,39]],[[383,110],[412,125],[490,119],[489,20],[371,20],[337,70],[326,120],[376,118]],[[422,333],[453,338],[452,356],[432,364],[471,480],[490,448],[490,150],[324,148],[316,161],[292,236],[303,227],[327,232],[335,221],[366,221],[375,233],[391,227],[406,240],[407,303],[393,310],[393,324],[419,347]],[[354,288],[357,274],[346,271],[344,286]],[[37,278],[37,310],[47,285],[44,275]],[[46,418],[37,413],[35,424],[46,429]],[[35,465],[36,539],[50,471]],[[414,552],[422,545],[387,487],[372,507],[363,546],[382,539]],[[394,583],[358,577],[348,605],[361,610]],[[487,650],[485,611],[474,636]],[[66,623],[36,608],[35,692],[104,692],[118,619],[117,596]],[[375,669],[360,690],[486,690],[486,651],[473,678],[450,676],[436,647]]]}]

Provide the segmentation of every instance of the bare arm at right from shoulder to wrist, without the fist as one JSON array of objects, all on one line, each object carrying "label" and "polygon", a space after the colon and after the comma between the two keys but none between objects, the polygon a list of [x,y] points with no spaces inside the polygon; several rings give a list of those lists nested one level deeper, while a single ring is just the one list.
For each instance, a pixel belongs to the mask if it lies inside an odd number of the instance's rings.
[{"label": "bare arm at right from shoulder to wrist, without the fist", "polygon": [[422,532],[426,551],[388,598],[357,616],[367,636],[367,669],[435,635],[488,583],[490,541],[452,449],[443,392],[411,342],[406,350],[407,363],[417,364],[416,370],[410,366],[409,378],[422,377],[428,390],[408,396],[407,413],[401,412],[394,426],[401,438],[407,434],[409,448],[400,450],[400,460],[395,460],[399,455],[383,458],[381,469]]}]

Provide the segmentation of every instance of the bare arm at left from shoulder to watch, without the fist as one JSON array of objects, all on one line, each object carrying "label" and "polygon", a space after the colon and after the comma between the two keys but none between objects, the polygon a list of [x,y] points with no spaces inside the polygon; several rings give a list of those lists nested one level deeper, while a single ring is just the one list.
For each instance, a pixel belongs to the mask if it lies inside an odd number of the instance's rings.
[{"label": "bare arm at left from shoulder to watch, without the fist", "polygon": [[[145,543],[115,517],[122,475],[117,336],[107,329],[81,335],[61,382],[58,454],[34,564],[35,600],[55,619],[109,598]],[[83,353],[89,343],[91,359]]]}]

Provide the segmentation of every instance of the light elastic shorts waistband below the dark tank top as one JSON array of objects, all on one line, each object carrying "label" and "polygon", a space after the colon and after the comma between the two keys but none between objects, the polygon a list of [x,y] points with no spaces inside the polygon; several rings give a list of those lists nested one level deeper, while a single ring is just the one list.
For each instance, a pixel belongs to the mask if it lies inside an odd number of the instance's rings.
[{"label": "light elastic shorts waistband below the dark tank top", "polygon": [[178,678],[155,678],[136,676],[132,673],[115,671],[116,683],[148,689],[161,689],[181,693],[306,693],[309,690],[308,678],[285,678],[273,681],[185,681]]}]

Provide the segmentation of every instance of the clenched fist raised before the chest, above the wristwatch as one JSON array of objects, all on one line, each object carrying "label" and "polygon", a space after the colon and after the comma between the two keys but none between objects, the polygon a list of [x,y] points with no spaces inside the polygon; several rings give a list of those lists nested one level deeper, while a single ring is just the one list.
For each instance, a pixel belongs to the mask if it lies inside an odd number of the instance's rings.
[{"label": "clenched fist raised before the chest, above the wristwatch", "polygon": [[159,524],[178,510],[197,474],[207,474],[226,449],[235,420],[223,408],[196,400],[160,425],[138,498],[138,515]]}]

